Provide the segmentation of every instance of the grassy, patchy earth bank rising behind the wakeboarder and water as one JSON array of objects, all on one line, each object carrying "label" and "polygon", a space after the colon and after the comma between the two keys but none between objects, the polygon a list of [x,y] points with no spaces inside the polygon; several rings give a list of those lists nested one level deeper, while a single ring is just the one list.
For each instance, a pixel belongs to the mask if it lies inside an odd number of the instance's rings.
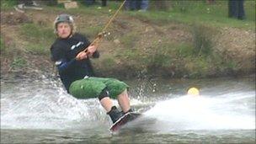
[{"label": "grassy, patchy earth bank rising behind the wakeboarder and water", "polygon": [[[79,8],[66,10],[59,4],[44,6],[43,11],[17,13],[13,2],[1,1],[1,59],[8,59],[6,65],[11,70],[32,67],[31,62],[38,68],[40,60],[50,63],[49,48],[56,38],[52,22],[57,14],[72,14],[77,31],[93,40],[120,5],[109,2],[107,8],[99,8],[79,3]],[[244,20],[227,18],[225,1],[169,4],[171,7],[165,11],[150,8],[147,12],[119,13],[108,29],[110,35],[99,46],[101,58],[93,61],[96,72],[106,77],[135,77],[141,72],[160,77],[218,77],[254,72],[255,1],[245,1]],[[35,57],[38,61],[31,60]],[[2,72],[7,69],[1,68]]]}]

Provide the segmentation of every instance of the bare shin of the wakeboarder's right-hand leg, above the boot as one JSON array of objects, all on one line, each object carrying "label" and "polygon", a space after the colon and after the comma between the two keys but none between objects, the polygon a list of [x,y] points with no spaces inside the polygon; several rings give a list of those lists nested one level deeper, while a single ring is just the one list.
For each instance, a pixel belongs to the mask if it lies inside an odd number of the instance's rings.
[{"label": "bare shin of the wakeboarder's right-hand leg, above the boot", "polygon": [[118,104],[120,104],[120,108],[123,110],[124,113],[128,112],[131,109],[130,99],[128,97],[128,93],[126,89],[123,93],[120,93],[117,96],[117,100],[118,100]]}]

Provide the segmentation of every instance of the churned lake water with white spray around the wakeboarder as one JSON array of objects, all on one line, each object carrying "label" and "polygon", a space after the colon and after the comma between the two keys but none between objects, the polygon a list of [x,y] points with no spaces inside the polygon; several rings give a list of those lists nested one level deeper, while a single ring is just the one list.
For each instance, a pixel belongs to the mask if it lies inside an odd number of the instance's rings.
[{"label": "churned lake water with white spray around the wakeboarder", "polygon": [[[126,83],[144,115],[111,134],[98,99],[74,99],[46,77],[2,80],[1,143],[255,143],[254,76]],[[200,97],[185,94],[191,86]]]}]

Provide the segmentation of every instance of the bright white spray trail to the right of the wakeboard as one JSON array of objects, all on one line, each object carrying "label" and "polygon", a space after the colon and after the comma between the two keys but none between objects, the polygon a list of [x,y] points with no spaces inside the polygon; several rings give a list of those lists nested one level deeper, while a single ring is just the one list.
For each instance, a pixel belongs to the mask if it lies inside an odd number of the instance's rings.
[{"label": "bright white spray trail to the right of the wakeboard", "polygon": [[156,118],[162,131],[255,129],[254,94],[183,96],[158,102],[145,115]]}]

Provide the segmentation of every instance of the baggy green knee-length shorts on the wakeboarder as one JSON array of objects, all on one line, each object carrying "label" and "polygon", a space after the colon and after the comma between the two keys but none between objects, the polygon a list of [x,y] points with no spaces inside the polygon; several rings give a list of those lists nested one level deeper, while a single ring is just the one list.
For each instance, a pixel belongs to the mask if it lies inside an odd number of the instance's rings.
[{"label": "baggy green knee-length shorts on the wakeboarder", "polygon": [[77,99],[97,98],[104,88],[109,91],[109,97],[116,99],[129,86],[115,78],[88,77],[73,82],[69,93]]}]

